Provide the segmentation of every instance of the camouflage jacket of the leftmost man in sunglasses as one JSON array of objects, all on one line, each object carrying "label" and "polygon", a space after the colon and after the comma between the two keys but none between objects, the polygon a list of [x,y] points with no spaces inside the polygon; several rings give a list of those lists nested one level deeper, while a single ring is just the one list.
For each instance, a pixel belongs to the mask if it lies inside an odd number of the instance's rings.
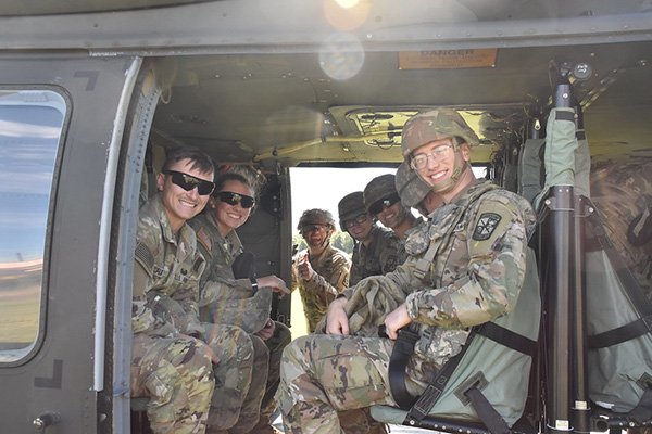
[{"label": "camouflage jacket of the leftmost man in sunglasses", "polygon": [[159,194],[142,205],[134,264],[134,333],[202,333],[198,301],[203,269],[195,231],[188,225],[176,234],[172,231]]}]

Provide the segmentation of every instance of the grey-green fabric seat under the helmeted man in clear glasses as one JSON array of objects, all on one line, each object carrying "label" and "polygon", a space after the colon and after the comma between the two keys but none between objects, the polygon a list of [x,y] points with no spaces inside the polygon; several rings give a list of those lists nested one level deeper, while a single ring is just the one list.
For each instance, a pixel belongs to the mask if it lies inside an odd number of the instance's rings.
[{"label": "grey-green fabric seat under the helmeted man in clear glasses", "polygon": [[[474,388],[476,383],[486,401],[509,426],[523,414],[532,366],[530,350],[539,335],[541,314],[539,277],[531,248],[528,248],[526,257],[525,282],[528,283],[524,284],[516,305],[507,315],[487,323],[498,326],[498,332],[477,333],[471,341],[426,418],[481,420],[475,404],[465,396],[465,392]],[[514,335],[517,342],[521,340],[526,344],[513,345],[511,339]],[[409,423],[409,411],[394,407],[372,407],[372,416],[385,423]]]}]

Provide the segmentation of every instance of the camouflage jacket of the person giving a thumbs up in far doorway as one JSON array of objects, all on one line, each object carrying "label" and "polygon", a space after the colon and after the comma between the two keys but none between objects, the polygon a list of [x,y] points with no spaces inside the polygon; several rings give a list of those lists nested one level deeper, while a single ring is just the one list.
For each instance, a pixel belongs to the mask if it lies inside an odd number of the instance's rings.
[{"label": "camouflage jacket of the person giving a thumbs up in far doorway", "polygon": [[[315,271],[308,281],[299,278],[297,271],[297,265],[306,259]],[[329,244],[316,257],[310,256],[308,250],[299,252],[292,264],[292,290],[299,289],[309,330],[313,332],[330,302],[349,286],[351,261],[344,252]]]}]

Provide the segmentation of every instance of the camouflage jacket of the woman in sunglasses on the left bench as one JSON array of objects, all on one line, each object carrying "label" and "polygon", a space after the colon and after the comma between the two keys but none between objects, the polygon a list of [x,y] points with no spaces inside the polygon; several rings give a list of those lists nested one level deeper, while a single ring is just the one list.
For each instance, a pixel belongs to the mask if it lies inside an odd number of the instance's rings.
[{"label": "camouflage jacket of the woman in sunglasses on the left bench", "polygon": [[272,291],[259,288],[254,293],[249,278],[235,278],[233,265],[243,252],[238,234],[233,230],[222,237],[215,215],[210,212],[195,217],[190,226],[197,232],[198,250],[206,260],[200,279],[202,320],[258,332],[269,319]]}]

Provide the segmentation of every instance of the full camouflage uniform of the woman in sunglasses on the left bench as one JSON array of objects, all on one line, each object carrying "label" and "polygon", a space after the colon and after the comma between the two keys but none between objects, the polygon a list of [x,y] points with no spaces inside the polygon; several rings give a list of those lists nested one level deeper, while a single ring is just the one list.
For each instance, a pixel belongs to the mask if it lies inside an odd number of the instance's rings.
[{"label": "full camouflage uniform of the woman in sunglasses on the left bench", "polygon": [[[212,407],[220,408],[211,409],[209,431],[213,426],[225,426],[224,418],[239,409],[240,418],[229,432],[250,432],[259,417],[262,425],[268,425],[269,417],[276,409],[273,397],[278,387],[280,356],[291,341],[290,330],[285,324],[275,322],[274,335],[267,341],[253,334],[269,319],[272,291],[261,288],[252,295],[251,281],[248,278],[235,278],[231,267],[238,255],[243,252],[242,243],[236,231],[222,237],[214,213],[200,214],[190,220],[190,226],[197,232],[198,250],[206,260],[200,280],[202,319],[216,324],[237,326],[250,333],[249,337],[253,344],[253,369],[250,379],[242,379],[238,386],[238,390],[246,391],[247,395],[231,394],[231,398],[225,396],[221,403],[213,399]],[[236,360],[233,361],[235,362]],[[225,372],[226,374],[229,373]],[[246,383],[249,383],[248,388]],[[221,393],[220,386],[215,392]],[[263,432],[267,427],[271,432],[271,426],[259,426],[255,432]]]}]

